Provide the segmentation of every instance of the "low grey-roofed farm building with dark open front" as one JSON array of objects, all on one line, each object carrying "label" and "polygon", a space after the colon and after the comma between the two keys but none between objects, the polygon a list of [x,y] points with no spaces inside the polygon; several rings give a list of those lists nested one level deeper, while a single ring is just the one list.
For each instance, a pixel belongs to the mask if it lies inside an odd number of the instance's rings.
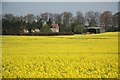
[{"label": "low grey-roofed farm building with dark open front", "polygon": [[87,27],[84,28],[83,33],[94,33],[94,34],[98,34],[98,33],[103,33],[105,32],[105,30],[101,27]]}]

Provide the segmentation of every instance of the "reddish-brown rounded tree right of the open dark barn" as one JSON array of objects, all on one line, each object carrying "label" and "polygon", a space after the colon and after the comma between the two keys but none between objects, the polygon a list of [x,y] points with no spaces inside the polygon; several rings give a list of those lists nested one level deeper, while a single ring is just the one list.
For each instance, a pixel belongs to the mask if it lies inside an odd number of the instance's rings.
[{"label": "reddish-brown rounded tree right of the open dark barn", "polygon": [[103,12],[100,19],[102,27],[107,31],[112,26],[112,12]]}]

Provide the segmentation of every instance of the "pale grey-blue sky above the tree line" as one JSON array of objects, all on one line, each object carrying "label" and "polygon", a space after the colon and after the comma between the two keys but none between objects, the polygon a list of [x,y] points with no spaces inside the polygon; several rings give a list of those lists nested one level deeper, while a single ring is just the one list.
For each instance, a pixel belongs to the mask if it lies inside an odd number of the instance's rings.
[{"label": "pale grey-blue sky above the tree line", "polygon": [[83,13],[88,11],[111,11],[113,14],[118,11],[118,2],[2,2],[2,13],[12,13],[23,16],[26,14],[39,15],[44,12],[62,13],[64,11],[77,11]]}]

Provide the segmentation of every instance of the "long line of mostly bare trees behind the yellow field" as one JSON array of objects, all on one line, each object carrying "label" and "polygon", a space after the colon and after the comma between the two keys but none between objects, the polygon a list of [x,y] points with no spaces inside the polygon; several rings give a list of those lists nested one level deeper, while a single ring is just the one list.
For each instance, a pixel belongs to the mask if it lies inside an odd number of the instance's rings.
[{"label": "long line of mostly bare trees behind the yellow field", "polygon": [[[22,34],[23,29],[31,33],[32,29],[39,29],[40,32],[49,32],[50,25],[57,23],[60,32],[82,33],[85,27],[102,27],[106,31],[120,31],[120,12],[112,14],[110,11],[103,13],[88,11],[83,14],[81,11],[73,15],[71,12],[62,13],[40,13],[39,15],[27,14],[15,16],[13,14],[2,15],[2,34]],[[43,25],[46,23],[47,25]]]}]

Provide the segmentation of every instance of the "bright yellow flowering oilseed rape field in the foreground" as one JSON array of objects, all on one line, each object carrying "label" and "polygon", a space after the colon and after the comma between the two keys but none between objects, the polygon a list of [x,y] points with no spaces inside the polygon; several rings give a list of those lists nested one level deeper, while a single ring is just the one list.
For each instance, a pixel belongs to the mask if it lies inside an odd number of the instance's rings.
[{"label": "bright yellow flowering oilseed rape field in the foreground", "polygon": [[1,39],[3,78],[118,78],[118,32]]}]

